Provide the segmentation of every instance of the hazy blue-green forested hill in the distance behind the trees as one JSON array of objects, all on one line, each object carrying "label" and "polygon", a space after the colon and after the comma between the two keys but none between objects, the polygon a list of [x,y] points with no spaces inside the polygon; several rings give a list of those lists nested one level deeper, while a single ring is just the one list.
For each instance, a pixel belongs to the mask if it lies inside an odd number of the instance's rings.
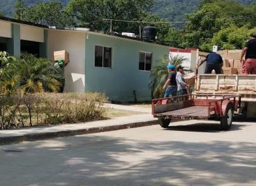
[{"label": "hazy blue-green forested hill in the distance behind the trees", "polygon": [[[38,2],[51,0],[25,0],[25,6],[32,6]],[[65,6],[68,0],[61,0]],[[153,13],[169,21],[183,21],[185,14],[189,14],[199,8],[201,0],[155,0],[156,4],[152,9]],[[256,3],[256,0],[237,0],[241,3]],[[0,0],[0,12],[8,17],[12,17],[15,9],[16,0]]]}]

